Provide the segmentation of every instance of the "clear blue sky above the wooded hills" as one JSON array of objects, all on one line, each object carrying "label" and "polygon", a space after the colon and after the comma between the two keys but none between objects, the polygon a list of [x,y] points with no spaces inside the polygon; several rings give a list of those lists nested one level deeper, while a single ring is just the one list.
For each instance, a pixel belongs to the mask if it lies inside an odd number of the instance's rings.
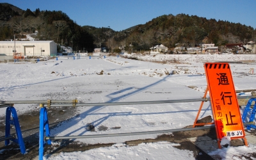
[{"label": "clear blue sky above the wooded hills", "polygon": [[256,1],[238,0],[0,0],[22,10],[61,10],[80,26],[108,27],[115,31],[145,24],[161,15],[185,13],[206,19],[227,20],[256,28]]}]

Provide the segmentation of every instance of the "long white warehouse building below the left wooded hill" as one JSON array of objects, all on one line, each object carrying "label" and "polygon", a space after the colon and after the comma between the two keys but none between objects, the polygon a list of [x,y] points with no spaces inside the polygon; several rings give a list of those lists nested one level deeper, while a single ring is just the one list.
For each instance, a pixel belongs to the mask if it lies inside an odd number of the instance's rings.
[{"label": "long white warehouse building below the left wooded hill", "polygon": [[50,56],[57,54],[54,41],[0,41],[0,55],[13,56],[13,52],[22,56]]}]

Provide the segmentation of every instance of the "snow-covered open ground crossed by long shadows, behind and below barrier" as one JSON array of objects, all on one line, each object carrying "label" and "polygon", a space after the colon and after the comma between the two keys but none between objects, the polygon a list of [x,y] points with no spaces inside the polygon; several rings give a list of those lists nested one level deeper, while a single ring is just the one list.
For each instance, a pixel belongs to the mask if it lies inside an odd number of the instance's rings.
[{"label": "snow-covered open ground crossed by long shadows, behind and below barrier", "polygon": [[[59,57],[58,60],[37,63],[1,63],[0,100],[77,99],[80,103],[97,103],[198,99],[204,96],[207,86],[206,61],[230,61],[236,90],[256,89],[256,75],[248,73],[250,68],[256,69],[255,54],[138,56],[138,59],[144,61],[115,57],[83,57],[80,60]],[[166,64],[151,61],[166,61]],[[234,61],[245,62],[231,63]],[[67,117],[68,121],[51,130],[51,136],[180,129],[193,124],[199,106],[200,102],[77,107],[77,116]],[[39,110],[39,106],[17,104],[15,109],[20,115]],[[0,115],[4,114],[5,108],[0,108]],[[212,115],[209,102],[204,103],[199,118],[207,115]],[[88,131],[88,124],[95,126],[95,132]],[[141,143],[134,147],[124,144],[128,140],[156,138],[157,135],[76,139],[81,143],[116,145],[45,155],[44,159],[195,159],[193,152],[174,148],[179,144],[166,141]],[[223,159],[239,159],[255,153],[255,148],[249,144],[249,147],[228,147],[211,154],[219,154]]]}]

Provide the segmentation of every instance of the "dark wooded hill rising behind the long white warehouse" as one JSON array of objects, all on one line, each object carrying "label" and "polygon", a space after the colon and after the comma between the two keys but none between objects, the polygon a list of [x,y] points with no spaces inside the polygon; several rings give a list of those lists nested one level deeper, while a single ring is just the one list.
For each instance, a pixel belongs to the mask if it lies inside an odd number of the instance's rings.
[{"label": "dark wooded hill rising behind the long white warehouse", "polygon": [[33,12],[29,9],[20,12],[12,4],[0,3],[0,24],[0,40],[13,39],[13,33],[15,38],[24,38],[24,35],[38,31],[37,40],[54,40],[76,51],[92,52],[94,49],[92,35],[61,11],[37,8]]}]

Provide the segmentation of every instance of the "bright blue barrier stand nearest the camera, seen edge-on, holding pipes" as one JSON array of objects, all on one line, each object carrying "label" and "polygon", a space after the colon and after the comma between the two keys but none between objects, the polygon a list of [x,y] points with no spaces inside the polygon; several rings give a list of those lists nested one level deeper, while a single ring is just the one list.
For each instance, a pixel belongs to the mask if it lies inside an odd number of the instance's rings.
[{"label": "bright blue barrier stand nearest the camera, seen edge-on, holding pipes", "polygon": [[44,156],[44,146],[47,143],[51,145],[51,140],[44,141],[44,129],[45,129],[45,136],[50,136],[50,129],[49,129],[49,122],[47,117],[47,109],[41,108],[40,109],[40,117],[39,117],[39,160],[43,160]]}]

